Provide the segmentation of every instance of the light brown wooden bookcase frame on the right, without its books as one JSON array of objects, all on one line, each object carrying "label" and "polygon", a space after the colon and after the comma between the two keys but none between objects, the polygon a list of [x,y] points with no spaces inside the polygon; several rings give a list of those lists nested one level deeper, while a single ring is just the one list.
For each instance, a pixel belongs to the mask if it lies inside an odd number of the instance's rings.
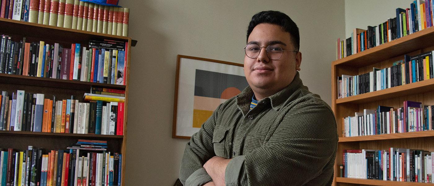
[{"label": "light brown wooden bookcase frame on the right, without its books", "polygon": [[400,108],[403,101],[418,101],[434,105],[434,79],[401,85],[385,90],[338,99],[337,77],[342,75],[361,75],[372,72],[372,68],[384,69],[394,62],[403,60],[404,54],[418,55],[434,50],[434,27],[430,27],[408,36],[395,39],[380,46],[358,52],[332,62],[332,110],[336,117],[339,135],[338,150],[335,160],[334,186],[422,186],[431,183],[396,182],[374,179],[351,179],[339,177],[339,164],[345,149],[385,150],[390,147],[422,149],[434,151],[434,131],[419,131],[399,134],[383,134],[359,137],[342,136],[342,118],[354,116],[363,109],[375,110],[378,105]]}]

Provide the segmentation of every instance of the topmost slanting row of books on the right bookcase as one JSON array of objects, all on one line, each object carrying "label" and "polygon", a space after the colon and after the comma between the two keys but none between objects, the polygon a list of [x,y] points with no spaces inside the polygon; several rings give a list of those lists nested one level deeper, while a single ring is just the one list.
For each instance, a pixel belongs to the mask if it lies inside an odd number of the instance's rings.
[{"label": "topmost slanting row of books on the right bookcase", "polygon": [[410,8],[396,9],[396,17],[378,26],[354,29],[351,37],[338,39],[336,59],[362,52],[434,25],[432,0],[414,0]]}]

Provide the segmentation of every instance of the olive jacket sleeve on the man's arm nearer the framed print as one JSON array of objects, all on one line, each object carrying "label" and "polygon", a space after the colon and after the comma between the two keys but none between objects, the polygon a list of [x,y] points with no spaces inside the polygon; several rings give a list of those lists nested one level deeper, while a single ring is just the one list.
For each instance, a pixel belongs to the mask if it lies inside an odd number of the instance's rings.
[{"label": "olive jacket sleeve on the man's arm nearer the framed print", "polygon": [[212,140],[220,106],[185,146],[179,171],[179,179],[184,186],[202,186],[212,181],[203,166],[207,160],[215,156]]}]

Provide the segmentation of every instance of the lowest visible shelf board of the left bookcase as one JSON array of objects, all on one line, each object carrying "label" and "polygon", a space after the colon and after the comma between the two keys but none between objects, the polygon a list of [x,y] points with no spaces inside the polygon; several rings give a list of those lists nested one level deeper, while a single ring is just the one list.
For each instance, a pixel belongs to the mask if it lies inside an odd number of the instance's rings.
[{"label": "lowest visible shelf board of the left bookcase", "polygon": [[30,132],[30,131],[0,131],[2,136],[33,136],[33,137],[69,137],[69,138],[99,138],[99,139],[122,139],[124,136],[119,135],[101,135],[101,134],[70,134],[70,133],[52,133],[52,132]]}]

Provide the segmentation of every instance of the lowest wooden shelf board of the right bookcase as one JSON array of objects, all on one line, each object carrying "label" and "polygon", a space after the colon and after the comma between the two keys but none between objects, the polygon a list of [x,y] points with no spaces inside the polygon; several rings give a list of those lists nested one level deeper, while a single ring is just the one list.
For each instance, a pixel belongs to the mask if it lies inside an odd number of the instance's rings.
[{"label": "lowest wooden shelf board of the right bookcase", "polygon": [[336,178],[337,183],[353,183],[373,186],[434,186],[434,183],[397,182],[375,179]]}]

